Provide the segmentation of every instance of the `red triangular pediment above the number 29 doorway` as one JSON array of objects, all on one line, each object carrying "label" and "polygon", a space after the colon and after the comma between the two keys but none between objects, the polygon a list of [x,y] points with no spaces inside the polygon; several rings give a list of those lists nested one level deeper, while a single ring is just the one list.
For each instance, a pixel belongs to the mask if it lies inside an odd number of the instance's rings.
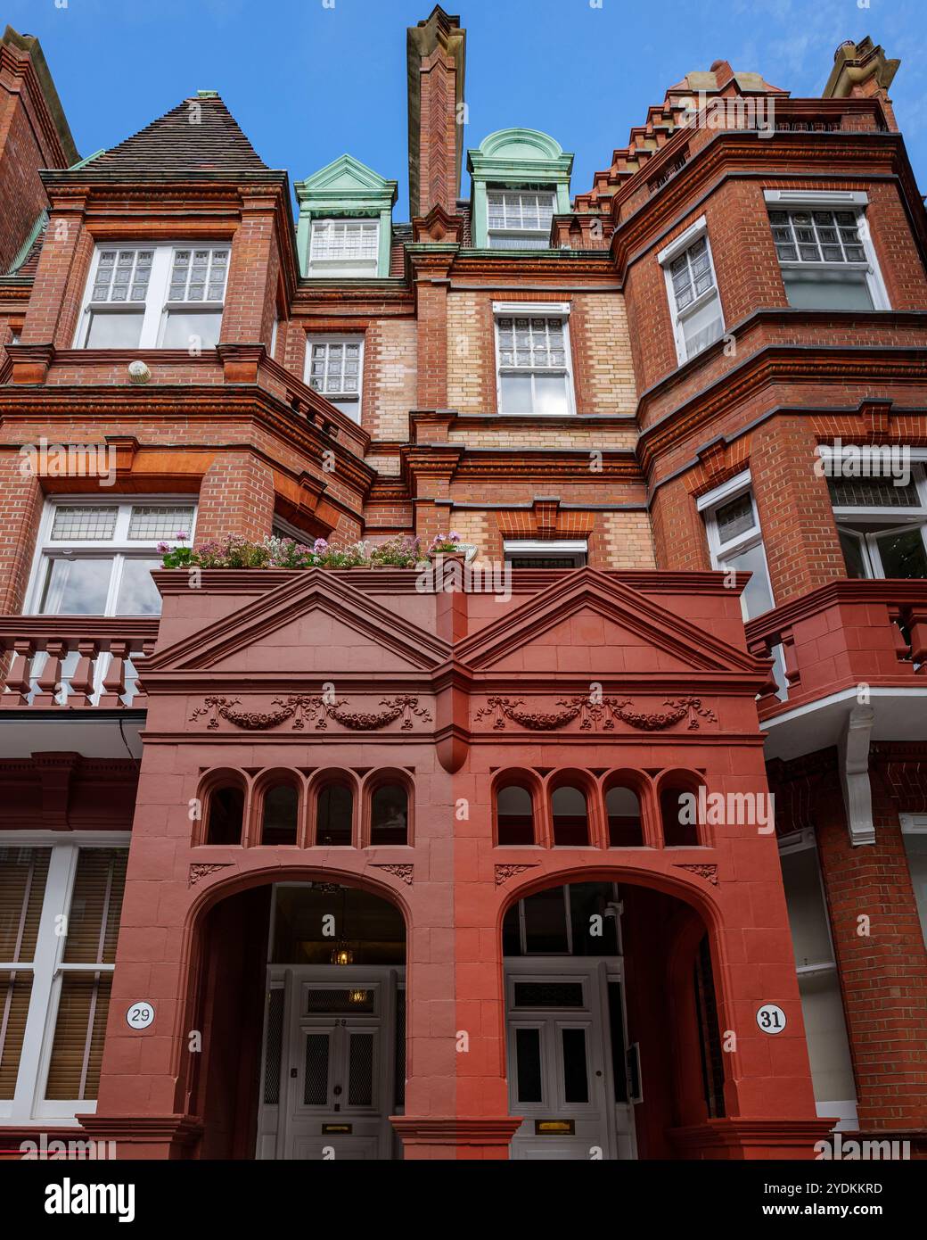
[{"label": "red triangular pediment above the number 29 doorway", "polygon": [[145,680],[160,672],[428,675],[449,652],[446,642],[347,582],[309,569],[157,651],[145,661]]}]

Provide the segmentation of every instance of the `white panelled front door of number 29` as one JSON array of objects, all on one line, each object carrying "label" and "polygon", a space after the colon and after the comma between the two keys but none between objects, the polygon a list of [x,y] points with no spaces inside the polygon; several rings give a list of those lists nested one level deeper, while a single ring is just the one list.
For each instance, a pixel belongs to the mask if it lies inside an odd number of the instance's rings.
[{"label": "white panelled front door of number 29", "polygon": [[259,1158],[394,1156],[403,972],[271,966]]}]

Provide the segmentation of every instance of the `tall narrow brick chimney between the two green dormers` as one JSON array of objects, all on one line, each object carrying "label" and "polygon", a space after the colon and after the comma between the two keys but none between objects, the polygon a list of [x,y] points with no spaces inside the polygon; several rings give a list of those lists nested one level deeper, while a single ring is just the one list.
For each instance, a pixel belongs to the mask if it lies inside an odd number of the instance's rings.
[{"label": "tall narrow brick chimney between the two green dormers", "polygon": [[409,212],[457,211],[464,154],[464,71],[467,33],[460,17],[435,5],[406,30],[409,69]]}]

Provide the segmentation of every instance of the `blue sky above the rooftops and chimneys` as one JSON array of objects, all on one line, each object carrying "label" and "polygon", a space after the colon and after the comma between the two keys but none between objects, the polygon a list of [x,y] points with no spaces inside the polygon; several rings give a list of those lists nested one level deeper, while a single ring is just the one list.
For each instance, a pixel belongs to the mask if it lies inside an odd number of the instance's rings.
[{"label": "blue sky above the rooftops and chimneys", "polygon": [[[348,151],[399,181],[395,218],[404,219],[405,27],[433,2],[6,0],[4,14],[41,40],[82,155],[113,146],[197,89],[214,89],[271,167],[301,179]],[[690,69],[729,60],[793,95],[819,95],[838,43],[866,33],[902,61],[891,95],[927,190],[925,0],[446,6],[456,10],[467,30],[466,145],[508,125],[543,129],[575,153],[574,193]]]}]

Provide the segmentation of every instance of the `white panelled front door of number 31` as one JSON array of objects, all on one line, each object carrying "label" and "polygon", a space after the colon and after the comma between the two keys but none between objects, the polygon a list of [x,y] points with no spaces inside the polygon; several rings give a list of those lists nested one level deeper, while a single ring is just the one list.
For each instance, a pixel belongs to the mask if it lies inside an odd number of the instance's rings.
[{"label": "white panelled front door of number 31", "polygon": [[635,1158],[623,966],[616,957],[506,963],[512,1158]]}]

